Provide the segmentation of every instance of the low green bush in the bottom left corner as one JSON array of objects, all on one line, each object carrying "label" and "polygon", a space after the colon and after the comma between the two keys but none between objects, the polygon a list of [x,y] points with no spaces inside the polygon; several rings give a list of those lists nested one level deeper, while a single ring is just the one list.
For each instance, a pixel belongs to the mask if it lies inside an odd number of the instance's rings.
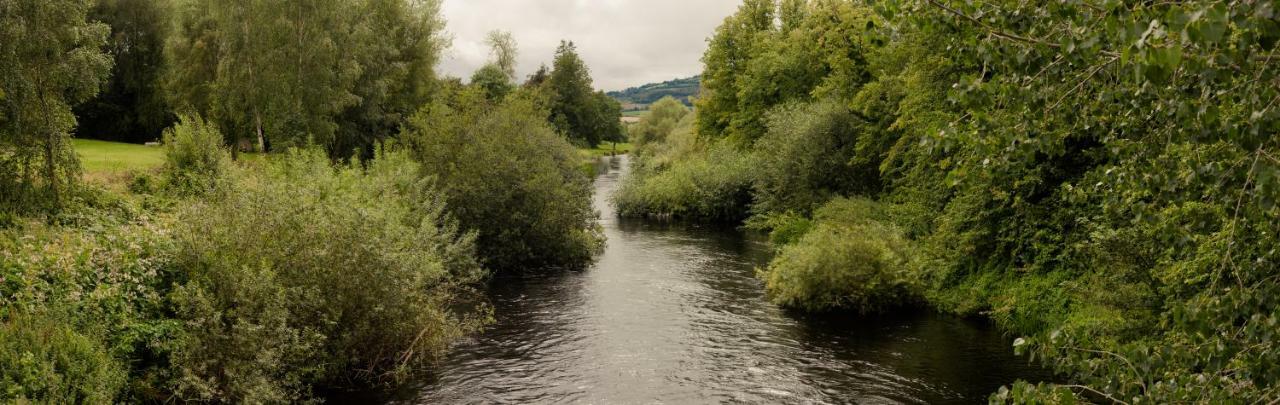
[{"label": "low green bush in the bottom left corner", "polygon": [[0,320],[0,400],[108,404],[125,373],[95,340],[51,315]]}]

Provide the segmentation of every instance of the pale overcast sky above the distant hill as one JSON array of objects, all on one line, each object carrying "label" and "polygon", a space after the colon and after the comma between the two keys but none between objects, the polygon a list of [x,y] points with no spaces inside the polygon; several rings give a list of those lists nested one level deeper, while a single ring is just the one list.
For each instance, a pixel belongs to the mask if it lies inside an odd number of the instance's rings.
[{"label": "pale overcast sky above the distant hill", "polygon": [[570,40],[599,90],[690,77],[701,72],[707,38],[739,0],[444,0],[453,46],[440,69],[467,79],[489,60],[484,37],[509,31],[520,45],[521,81],[550,67]]}]

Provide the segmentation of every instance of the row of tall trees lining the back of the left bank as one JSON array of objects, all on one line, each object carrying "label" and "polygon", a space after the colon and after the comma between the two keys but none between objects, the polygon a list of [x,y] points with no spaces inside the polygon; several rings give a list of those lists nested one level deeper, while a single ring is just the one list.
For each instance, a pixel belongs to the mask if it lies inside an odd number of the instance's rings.
[{"label": "row of tall trees lining the back of the left bank", "polygon": [[[0,142],[20,150],[0,160],[15,174],[0,179],[10,206],[59,205],[78,178],[73,133],[156,141],[192,115],[233,154],[315,145],[371,159],[420,106],[462,86],[434,72],[449,45],[439,1],[12,0],[0,12]],[[509,35],[490,44],[497,60],[472,82],[497,100],[516,87],[516,49]],[[556,129],[584,146],[622,137],[620,106],[591,88],[572,42],[540,74],[525,85],[545,94]]]}]

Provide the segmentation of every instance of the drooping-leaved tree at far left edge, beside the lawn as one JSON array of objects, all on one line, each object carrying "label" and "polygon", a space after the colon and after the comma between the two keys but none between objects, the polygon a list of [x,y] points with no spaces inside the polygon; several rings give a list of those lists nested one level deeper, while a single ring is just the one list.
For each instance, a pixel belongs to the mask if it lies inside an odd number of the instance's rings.
[{"label": "drooping-leaved tree at far left edge, beside the lawn", "polygon": [[72,108],[111,69],[110,28],[82,0],[0,0],[0,209],[56,211],[79,163]]}]

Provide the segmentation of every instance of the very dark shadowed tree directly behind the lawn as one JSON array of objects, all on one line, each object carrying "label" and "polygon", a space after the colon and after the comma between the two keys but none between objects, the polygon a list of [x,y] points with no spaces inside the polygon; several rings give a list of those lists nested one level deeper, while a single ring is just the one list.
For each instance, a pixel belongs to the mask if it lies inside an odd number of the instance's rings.
[{"label": "very dark shadowed tree directly behind the lawn", "polygon": [[90,19],[111,27],[108,50],[115,64],[102,94],[76,108],[77,136],[125,142],[160,138],[174,119],[160,82],[169,3],[101,0]]}]

